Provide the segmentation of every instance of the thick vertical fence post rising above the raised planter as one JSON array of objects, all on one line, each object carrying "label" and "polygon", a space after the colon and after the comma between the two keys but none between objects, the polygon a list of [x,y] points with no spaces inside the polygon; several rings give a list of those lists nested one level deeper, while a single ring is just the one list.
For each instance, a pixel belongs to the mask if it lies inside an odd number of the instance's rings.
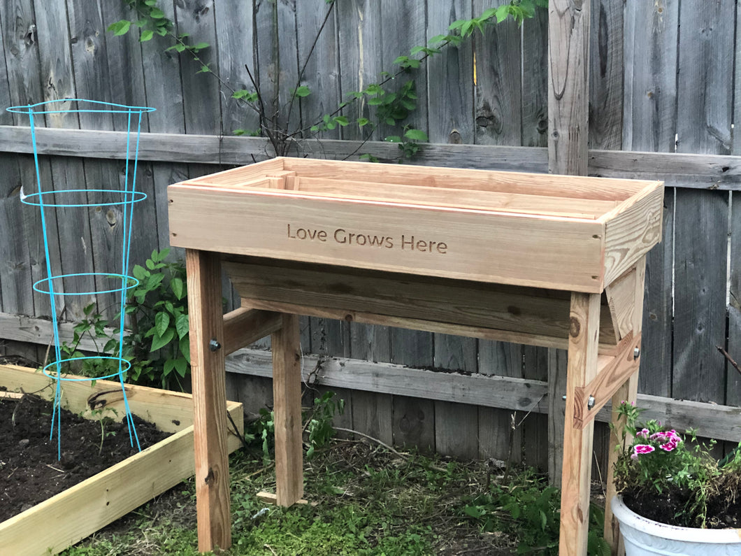
[{"label": "thick vertical fence post rising above the raised planter", "polygon": [[587,173],[590,0],[548,3],[548,170]]}]

